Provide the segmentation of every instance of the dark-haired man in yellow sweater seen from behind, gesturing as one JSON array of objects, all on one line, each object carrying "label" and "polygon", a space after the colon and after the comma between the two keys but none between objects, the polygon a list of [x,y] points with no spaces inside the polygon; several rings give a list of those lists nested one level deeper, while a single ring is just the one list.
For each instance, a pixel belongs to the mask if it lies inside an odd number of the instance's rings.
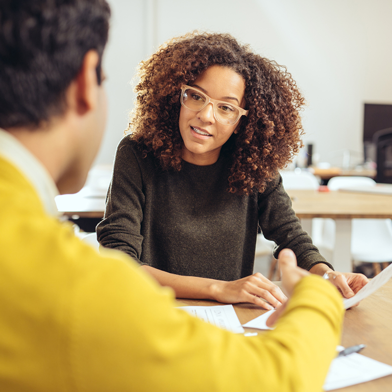
[{"label": "dark-haired man in yellow sweater seen from behind, gesturing", "polygon": [[245,337],[59,222],[54,196],[83,186],[105,126],[109,14],[105,0],[0,3],[0,391],[320,391],[342,299],[291,251],[275,329]]}]

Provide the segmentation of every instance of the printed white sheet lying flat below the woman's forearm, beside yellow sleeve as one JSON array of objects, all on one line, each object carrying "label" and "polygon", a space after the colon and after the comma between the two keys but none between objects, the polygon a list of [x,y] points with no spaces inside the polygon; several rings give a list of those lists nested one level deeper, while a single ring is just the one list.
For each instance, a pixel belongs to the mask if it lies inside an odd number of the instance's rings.
[{"label": "printed white sheet lying flat below the woman's forearm, beside yellow sleeve", "polygon": [[233,305],[179,306],[179,308],[184,309],[192,316],[196,316],[203,321],[226,329],[227,331],[231,331],[236,334],[242,334],[245,332]]}]

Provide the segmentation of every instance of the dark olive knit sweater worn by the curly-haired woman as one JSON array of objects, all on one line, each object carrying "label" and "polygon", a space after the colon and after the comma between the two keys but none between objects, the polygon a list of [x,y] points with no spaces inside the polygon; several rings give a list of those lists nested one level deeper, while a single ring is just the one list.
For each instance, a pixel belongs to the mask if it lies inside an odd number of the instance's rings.
[{"label": "dark olive knit sweater worn by the curly-haired woman", "polygon": [[263,193],[233,195],[227,192],[229,166],[221,154],[210,166],[184,162],[179,172],[163,171],[152,154],[143,158],[141,147],[125,137],[117,149],[105,217],[97,226],[98,241],[142,265],[235,280],[253,273],[260,227],[278,245],[275,255],[288,247],[304,269],[326,263],[302,230],[281,177]]}]

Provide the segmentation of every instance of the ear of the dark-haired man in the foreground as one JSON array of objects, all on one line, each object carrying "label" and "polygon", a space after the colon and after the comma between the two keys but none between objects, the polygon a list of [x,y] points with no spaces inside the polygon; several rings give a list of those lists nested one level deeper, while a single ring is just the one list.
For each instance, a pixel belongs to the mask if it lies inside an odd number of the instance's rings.
[{"label": "ear of the dark-haired man in the foreground", "polygon": [[[97,105],[97,66],[99,55],[96,50],[89,50],[83,58],[79,73],[71,83],[68,104],[73,106],[78,114],[83,115]],[[70,101],[71,100],[71,101]]]}]

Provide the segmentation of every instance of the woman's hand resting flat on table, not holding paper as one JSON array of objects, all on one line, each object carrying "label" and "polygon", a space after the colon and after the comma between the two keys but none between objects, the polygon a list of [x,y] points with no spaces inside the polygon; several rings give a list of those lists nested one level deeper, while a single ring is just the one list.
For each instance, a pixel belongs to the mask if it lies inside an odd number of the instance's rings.
[{"label": "woman's hand resting flat on table, not holding paper", "polygon": [[216,281],[212,296],[219,302],[250,302],[268,310],[287,301],[279,287],[259,272],[230,282]]}]

